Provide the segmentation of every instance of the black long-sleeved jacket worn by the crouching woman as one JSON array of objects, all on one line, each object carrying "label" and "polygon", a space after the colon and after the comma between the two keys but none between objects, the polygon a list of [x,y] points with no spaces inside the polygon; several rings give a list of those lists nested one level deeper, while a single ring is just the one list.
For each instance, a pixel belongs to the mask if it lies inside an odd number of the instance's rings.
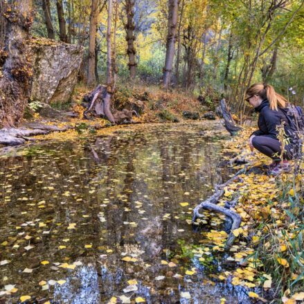
[{"label": "black long-sleeved jacket worn by the crouching woman", "polygon": [[262,100],[262,103],[255,108],[256,111],[260,112],[258,116],[258,130],[253,132],[251,135],[256,136],[268,136],[274,139],[278,139],[278,131],[276,127],[285,121],[287,125],[288,120],[283,111],[278,107],[278,111],[271,110],[269,108],[269,101],[267,99]]}]

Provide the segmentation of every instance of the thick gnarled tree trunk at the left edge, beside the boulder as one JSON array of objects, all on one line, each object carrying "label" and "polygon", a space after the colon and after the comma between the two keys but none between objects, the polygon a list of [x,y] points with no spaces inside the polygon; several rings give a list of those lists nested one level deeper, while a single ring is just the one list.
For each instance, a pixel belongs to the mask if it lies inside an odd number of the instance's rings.
[{"label": "thick gnarled tree trunk at the left edge, beside the boulder", "polygon": [[[7,30],[5,51],[0,73],[0,125],[12,127],[20,123],[28,103],[33,75],[28,60],[26,40],[33,22],[32,1],[14,1],[6,10]],[[0,60],[1,62],[1,60]]]}]

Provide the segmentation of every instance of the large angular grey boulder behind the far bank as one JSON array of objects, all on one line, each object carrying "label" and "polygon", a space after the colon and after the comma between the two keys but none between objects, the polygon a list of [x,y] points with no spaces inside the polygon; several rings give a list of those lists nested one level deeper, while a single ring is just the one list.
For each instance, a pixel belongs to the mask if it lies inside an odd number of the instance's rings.
[{"label": "large angular grey boulder behind the far bank", "polygon": [[66,102],[77,82],[83,48],[50,39],[29,42],[33,64],[30,99],[47,104]]}]

